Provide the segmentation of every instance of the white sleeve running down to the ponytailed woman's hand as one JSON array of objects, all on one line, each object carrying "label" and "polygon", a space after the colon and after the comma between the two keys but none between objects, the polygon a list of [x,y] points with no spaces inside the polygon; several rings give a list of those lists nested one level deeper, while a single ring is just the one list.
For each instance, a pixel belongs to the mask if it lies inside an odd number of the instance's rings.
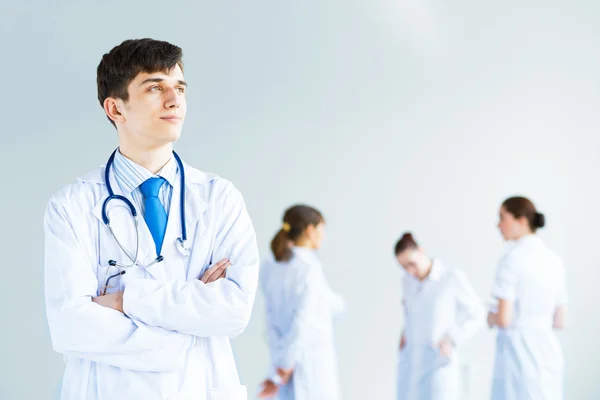
[{"label": "white sleeve running down to the ponytailed woman's hand", "polygon": [[306,276],[298,280],[297,302],[290,330],[279,338],[275,351],[277,367],[294,368],[300,352],[310,345],[313,337],[318,337],[320,329],[311,321],[314,310],[320,307],[320,276],[314,268],[307,268]]}]

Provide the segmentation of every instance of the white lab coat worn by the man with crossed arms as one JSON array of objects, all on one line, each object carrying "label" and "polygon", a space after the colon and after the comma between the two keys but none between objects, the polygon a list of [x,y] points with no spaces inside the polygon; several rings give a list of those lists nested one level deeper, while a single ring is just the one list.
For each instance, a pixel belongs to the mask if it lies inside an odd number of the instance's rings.
[{"label": "white lab coat worn by the man with crossed arms", "polygon": [[[92,302],[109,259],[128,261],[102,223],[104,167],[49,201],[45,220],[45,293],[54,349],[66,362],[62,399],[246,399],[229,338],[246,327],[258,282],[258,249],[241,194],[228,181],[185,167],[186,223],[181,235],[179,177],[163,244],[164,261],[131,267],[120,285],[125,314]],[[121,194],[111,171],[111,183]],[[108,207],[111,226],[133,252],[135,229],[123,202]],[[140,216],[140,261],[156,258]],[[198,278],[211,262],[231,260],[227,278]]]}]

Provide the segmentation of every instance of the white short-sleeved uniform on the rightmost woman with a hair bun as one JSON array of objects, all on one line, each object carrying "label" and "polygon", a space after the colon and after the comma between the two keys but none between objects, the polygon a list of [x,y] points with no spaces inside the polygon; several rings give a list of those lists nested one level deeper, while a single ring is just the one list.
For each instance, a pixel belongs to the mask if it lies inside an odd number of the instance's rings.
[{"label": "white short-sleeved uniform on the rightmost woman with a hair bun", "polygon": [[498,331],[492,399],[562,399],[564,361],[552,328],[567,302],[560,258],[538,236],[525,236],[500,261],[492,295],[514,306],[512,326]]}]

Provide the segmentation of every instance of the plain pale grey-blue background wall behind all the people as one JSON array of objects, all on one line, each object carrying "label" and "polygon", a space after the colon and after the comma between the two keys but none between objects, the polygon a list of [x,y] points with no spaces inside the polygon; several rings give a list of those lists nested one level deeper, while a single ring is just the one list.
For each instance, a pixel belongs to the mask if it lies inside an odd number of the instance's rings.
[{"label": "plain pale grey-blue background wall behind all the people", "polygon": [[[61,376],[43,305],[44,207],[115,147],[95,69],[134,37],[183,47],[176,148],[244,193],[262,254],[287,206],[325,214],[322,259],[349,309],[337,330],[344,399],[393,398],[398,236],[413,230],[485,300],[503,248],[497,208],[516,193],[546,213],[542,236],[569,271],[567,398],[600,397],[600,3],[87,3],[0,6],[0,398],[50,398]],[[488,396],[493,338],[465,351],[472,399]],[[268,359],[260,295],[234,346],[254,393]]]}]

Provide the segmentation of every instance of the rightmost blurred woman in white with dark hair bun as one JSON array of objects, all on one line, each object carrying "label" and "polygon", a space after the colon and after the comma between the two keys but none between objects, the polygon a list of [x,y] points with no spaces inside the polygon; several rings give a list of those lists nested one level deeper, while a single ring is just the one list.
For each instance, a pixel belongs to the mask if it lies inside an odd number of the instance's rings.
[{"label": "rightmost blurred woman in white with dark hair bun", "polygon": [[492,400],[563,399],[564,360],[554,330],[565,325],[565,271],[536,235],[545,224],[524,197],[500,208],[498,228],[512,246],[497,267],[488,314],[488,325],[498,327]]}]

